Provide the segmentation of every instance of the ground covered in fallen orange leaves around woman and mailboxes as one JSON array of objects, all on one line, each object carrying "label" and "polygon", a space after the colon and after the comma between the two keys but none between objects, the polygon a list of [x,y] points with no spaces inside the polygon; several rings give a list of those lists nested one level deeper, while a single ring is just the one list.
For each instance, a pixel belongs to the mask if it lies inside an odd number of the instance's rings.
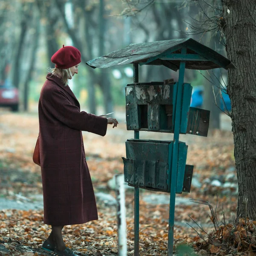
[{"label": "ground covered in fallen orange leaves around woman and mailboxes", "polygon": [[[121,157],[125,157],[125,141],[134,136],[132,131],[126,130],[123,121],[119,120],[117,128],[113,129],[109,126],[105,137],[83,133],[87,163],[95,192],[104,191],[114,197],[115,193],[108,187],[107,182],[115,174],[123,173]],[[157,140],[172,140],[172,136],[172,134],[151,132],[140,133],[140,138]],[[42,194],[41,170],[32,162],[32,153],[37,137],[37,114],[0,113],[1,197],[14,199],[18,201],[17,203],[22,204],[26,202],[26,199],[32,198],[32,195]],[[180,135],[180,140],[189,145],[187,164],[194,165],[194,175],[198,175],[200,181],[214,175],[227,175],[227,170],[234,166],[231,132],[209,132],[208,137]],[[191,193],[183,193],[177,197],[207,201],[215,209],[216,195],[221,194],[220,192],[220,187],[202,184],[200,188],[192,187]],[[140,195],[155,194],[161,193],[146,190],[140,193]],[[126,192],[125,200],[128,255],[133,255],[134,194],[131,190]],[[223,218],[221,217],[222,205],[226,223],[232,222],[232,213],[235,213],[236,210],[236,195],[231,196],[230,193],[218,197],[216,215],[220,220]],[[64,227],[64,240],[68,247],[80,255],[83,253],[90,256],[117,255],[115,206],[108,206],[98,201],[97,206],[99,220]],[[206,255],[227,255],[220,254],[223,250],[218,250],[218,245],[201,240],[198,234],[186,224],[187,222],[192,225],[199,233],[200,229],[195,223],[202,224],[204,231],[210,234],[213,230],[214,233],[214,225],[209,215],[209,207],[205,204],[177,205],[175,207],[175,245],[188,243],[191,246],[196,246],[199,248],[196,251],[201,250],[201,255],[204,255],[205,252]],[[140,200],[140,256],[166,255],[168,218],[169,204],[155,205]],[[51,255],[51,253],[47,254],[41,250],[41,244],[49,233],[49,226],[43,224],[42,210],[0,210],[0,245],[4,245],[11,255]],[[212,245],[218,248],[216,249]],[[237,245],[235,244],[236,247]],[[250,256],[253,255],[250,254]]]}]

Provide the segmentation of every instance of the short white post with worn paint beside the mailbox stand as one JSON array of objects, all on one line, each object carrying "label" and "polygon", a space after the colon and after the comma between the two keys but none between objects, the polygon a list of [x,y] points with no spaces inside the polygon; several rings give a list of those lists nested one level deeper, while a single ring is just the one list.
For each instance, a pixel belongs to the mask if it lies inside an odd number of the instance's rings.
[{"label": "short white post with worn paint beside the mailbox stand", "polygon": [[125,186],[124,175],[115,175],[116,180],[116,213],[118,231],[118,255],[127,256],[126,219],[125,219]]}]

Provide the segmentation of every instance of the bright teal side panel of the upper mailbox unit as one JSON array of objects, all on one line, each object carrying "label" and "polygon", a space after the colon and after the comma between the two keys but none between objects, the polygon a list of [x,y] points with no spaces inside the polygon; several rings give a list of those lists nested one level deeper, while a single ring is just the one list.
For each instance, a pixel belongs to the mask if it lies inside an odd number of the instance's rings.
[{"label": "bright teal side panel of the upper mailbox unit", "polygon": [[192,96],[192,86],[190,84],[183,84],[183,100],[180,119],[180,133],[186,134],[188,125],[189,106]]}]

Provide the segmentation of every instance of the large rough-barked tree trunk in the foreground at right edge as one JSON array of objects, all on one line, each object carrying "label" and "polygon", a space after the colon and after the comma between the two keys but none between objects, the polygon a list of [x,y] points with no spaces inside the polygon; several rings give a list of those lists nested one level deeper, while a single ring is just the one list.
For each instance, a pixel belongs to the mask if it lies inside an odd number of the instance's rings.
[{"label": "large rough-barked tree trunk in the foreground at right edge", "polygon": [[[256,1],[223,0],[234,156],[239,185],[237,218],[256,219]],[[228,13],[230,12],[230,13]],[[247,202],[247,203],[246,203]]]}]

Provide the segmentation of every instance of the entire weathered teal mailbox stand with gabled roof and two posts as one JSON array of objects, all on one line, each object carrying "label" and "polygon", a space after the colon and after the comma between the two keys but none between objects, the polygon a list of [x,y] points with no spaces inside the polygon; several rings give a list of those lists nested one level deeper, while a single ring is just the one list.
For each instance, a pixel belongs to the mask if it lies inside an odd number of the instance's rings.
[{"label": "entire weathered teal mailbox stand with gabled roof and two posts", "polygon": [[[125,87],[127,130],[125,182],[134,186],[134,255],[139,256],[139,188],[170,193],[167,255],[173,255],[175,196],[189,192],[193,166],[186,165],[187,146],[179,134],[207,136],[209,111],[190,108],[192,87],[185,69],[235,68],[230,60],[192,38],[130,44],[88,61],[90,67],[133,64],[134,84]],[[139,65],[163,65],[179,70],[177,82],[139,83]],[[173,133],[173,141],[140,140],[140,131]]]}]

